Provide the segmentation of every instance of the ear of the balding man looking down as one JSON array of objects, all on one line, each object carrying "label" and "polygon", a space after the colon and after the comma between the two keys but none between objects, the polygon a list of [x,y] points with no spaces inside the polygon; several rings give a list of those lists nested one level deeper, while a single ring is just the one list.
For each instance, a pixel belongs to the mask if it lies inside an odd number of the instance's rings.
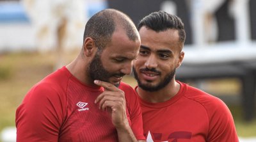
[{"label": "ear of the balding man looking down", "polygon": [[92,38],[88,37],[84,39],[84,45],[83,45],[83,54],[85,56],[92,56],[93,52],[95,51],[95,42]]}]

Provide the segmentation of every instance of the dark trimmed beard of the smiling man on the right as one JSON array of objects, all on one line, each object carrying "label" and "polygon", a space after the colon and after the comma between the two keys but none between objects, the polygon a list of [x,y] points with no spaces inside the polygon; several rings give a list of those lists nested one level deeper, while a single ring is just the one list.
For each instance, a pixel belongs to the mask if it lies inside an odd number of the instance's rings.
[{"label": "dark trimmed beard of the smiling man on the right", "polygon": [[[134,72],[134,77],[135,77],[135,79],[138,83],[138,86],[141,89],[145,90],[145,91],[158,91],[158,90],[161,90],[162,88],[164,88],[173,79],[173,76],[175,75],[175,70],[176,70],[176,68],[174,68],[174,70],[172,70],[172,72],[170,72],[170,74],[167,74],[164,77],[163,81],[161,81],[160,83],[153,86],[153,85],[150,85],[150,84],[141,83],[140,79],[138,78],[138,73],[136,72],[135,68],[132,67],[132,69],[133,69],[133,72]],[[161,75],[161,72],[157,71],[155,68],[152,68],[152,69],[143,68],[141,70],[156,72],[157,74]],[[150,81],[147,81],[147,82],[150,83]]]}]

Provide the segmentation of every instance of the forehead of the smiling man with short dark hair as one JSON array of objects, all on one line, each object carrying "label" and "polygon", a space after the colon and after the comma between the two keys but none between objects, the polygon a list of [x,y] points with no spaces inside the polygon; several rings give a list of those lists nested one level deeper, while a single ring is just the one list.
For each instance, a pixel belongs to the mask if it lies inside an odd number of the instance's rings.
[{"label": "forehead of the smiling man with short dark hair", "polygon": [[176,29],[167,29],[166,31],[153,31],[143,26],[140,31],[141,45],[153,49],[180,50],[179,31]]}]

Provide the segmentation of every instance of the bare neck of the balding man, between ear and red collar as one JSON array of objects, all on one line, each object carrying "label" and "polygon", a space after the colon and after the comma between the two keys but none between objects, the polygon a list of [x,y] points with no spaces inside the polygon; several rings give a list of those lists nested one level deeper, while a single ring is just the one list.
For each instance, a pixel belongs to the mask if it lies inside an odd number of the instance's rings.
[{"label": "bare neck of the balding man, between ear and red collar", "polygon": [[84,61],[80,55],[77,56],[74,61],[69,63],[66,67],[69,70],[69,72],[74,75],[81,83],[90,85],[90,86],[97,86],[93,83],[92,79],[88,77],[88,72],[86,70],[86,67],[88,67],[89,63]]}]

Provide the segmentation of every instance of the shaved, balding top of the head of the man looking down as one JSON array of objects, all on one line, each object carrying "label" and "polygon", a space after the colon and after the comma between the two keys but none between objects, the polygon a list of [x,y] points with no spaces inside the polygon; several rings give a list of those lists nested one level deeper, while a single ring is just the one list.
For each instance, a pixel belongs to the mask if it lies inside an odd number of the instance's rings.
[{"label": "shaved, balding top of the head of the man looking down", "polygon": [[106,9],[93,15],[86,23],[84,38],[93,38],[99,49],[104,49],[107,43],[111,42],[113,33],[122,28],[125,30],[129,40],[140,39],[139,33],[132,20],[118,10]]}]

